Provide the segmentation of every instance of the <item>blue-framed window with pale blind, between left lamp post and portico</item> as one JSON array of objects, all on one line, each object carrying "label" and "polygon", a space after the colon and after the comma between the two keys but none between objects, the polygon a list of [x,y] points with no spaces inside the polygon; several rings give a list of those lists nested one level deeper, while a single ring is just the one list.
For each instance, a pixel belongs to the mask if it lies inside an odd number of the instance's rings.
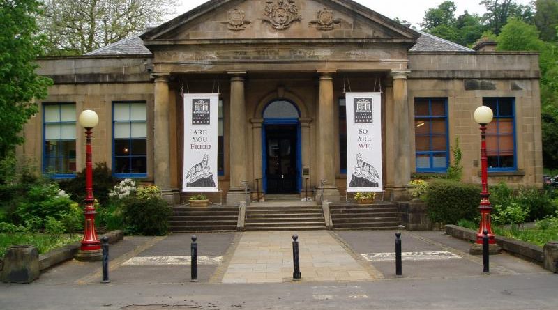
[{"label": "blue-framed window with pale blind, between left lamp post and portico", "polygon": [[112,168],[118,177],[147,176],[145,102],[114,102],[112,107]]}]

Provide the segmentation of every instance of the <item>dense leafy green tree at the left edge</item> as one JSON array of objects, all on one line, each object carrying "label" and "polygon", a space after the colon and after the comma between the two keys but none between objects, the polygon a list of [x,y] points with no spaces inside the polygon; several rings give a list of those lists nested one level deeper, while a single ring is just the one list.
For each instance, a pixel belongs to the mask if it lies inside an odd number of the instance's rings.
[{"label": "dense leafy green tree at the left edge", "polygon": [[47,95],[52,80],[35,73],[45,45],[38,35],[36,0],[0,1],[0,159],[22,144],[20,132]]}]

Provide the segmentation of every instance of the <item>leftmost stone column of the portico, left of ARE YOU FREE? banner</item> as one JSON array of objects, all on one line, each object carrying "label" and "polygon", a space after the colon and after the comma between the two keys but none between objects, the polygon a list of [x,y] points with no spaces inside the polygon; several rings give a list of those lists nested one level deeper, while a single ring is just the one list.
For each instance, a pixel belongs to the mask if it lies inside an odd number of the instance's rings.
[{"label": "leftmost stone column of the portico, left of ARE YOU FREE? banner", "polygon": [[155,76],[155,132],[153,136],[153,175],[155,185],[169,194],[170,186],[170,131],[169,131],[169,75]]}]

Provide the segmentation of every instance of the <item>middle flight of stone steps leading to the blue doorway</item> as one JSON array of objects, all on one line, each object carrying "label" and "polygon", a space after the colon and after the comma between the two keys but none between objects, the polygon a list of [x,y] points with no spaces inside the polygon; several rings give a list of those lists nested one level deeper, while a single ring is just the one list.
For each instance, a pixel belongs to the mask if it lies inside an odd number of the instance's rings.
[{"label": "middle flight of stone steps leading to the blue doorway", "polygon": [[309,231],[325,228],[322,207],[312,201],[272,200],[253,202],[246,207],[245,231]]}]

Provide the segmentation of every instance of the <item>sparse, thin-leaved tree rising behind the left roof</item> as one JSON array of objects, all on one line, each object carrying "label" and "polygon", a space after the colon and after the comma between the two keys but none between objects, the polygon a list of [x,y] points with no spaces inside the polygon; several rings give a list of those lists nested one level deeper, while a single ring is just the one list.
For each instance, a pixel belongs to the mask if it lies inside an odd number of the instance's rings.
[{"label": "sparse, thin-leaved tree rising behind the left roof", "polygon": [[160,24],[176,0],[44,0],[47,54],[84,54]]}]

